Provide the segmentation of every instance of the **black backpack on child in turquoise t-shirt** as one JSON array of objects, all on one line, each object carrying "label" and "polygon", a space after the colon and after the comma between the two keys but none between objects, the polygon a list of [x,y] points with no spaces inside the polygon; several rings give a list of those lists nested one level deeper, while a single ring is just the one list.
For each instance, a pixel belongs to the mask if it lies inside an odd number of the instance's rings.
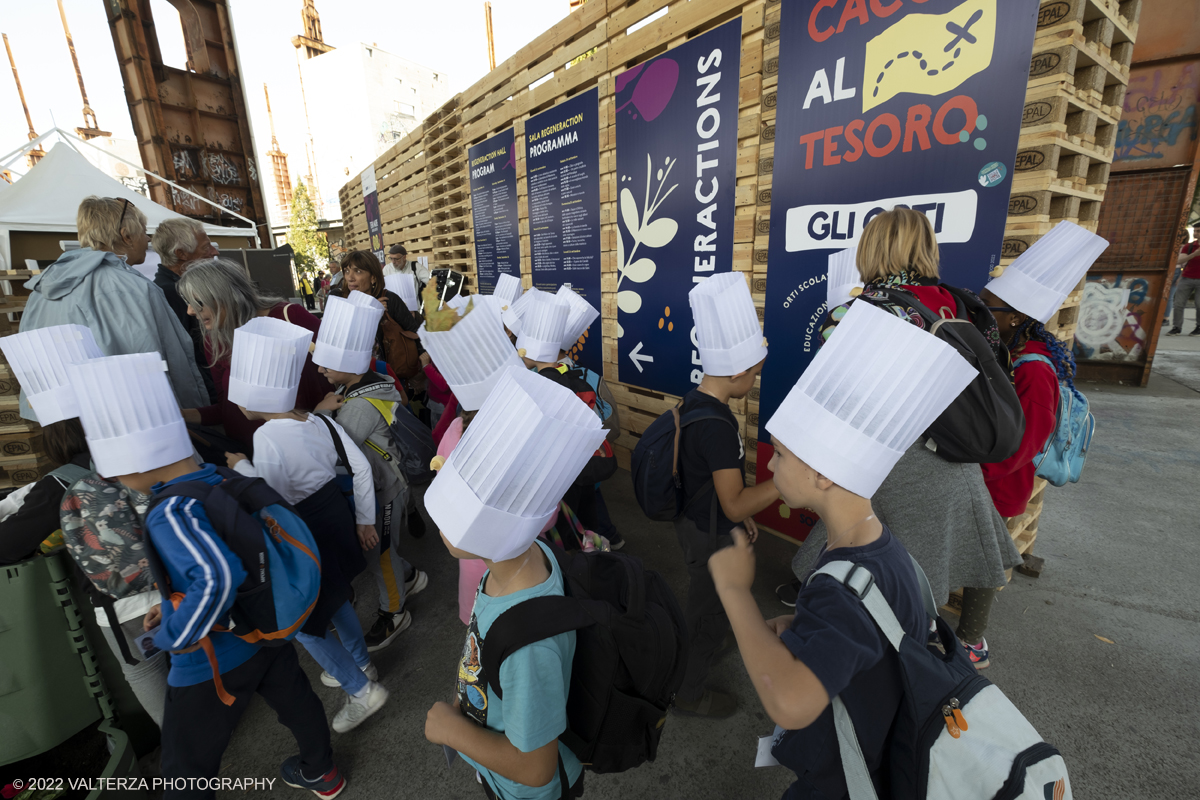
[{"label": "black backpack on child in turquoise t-shirt", "polygon": [[480,663],[503,698],[500,664],[521,648],[576,631],[568,729],[559,736],[593,772],[623,772],[658,754],[667,708],[688,666],[688,624],[662,576],[624,553],[548,548],[563,596],[500,614]]}]

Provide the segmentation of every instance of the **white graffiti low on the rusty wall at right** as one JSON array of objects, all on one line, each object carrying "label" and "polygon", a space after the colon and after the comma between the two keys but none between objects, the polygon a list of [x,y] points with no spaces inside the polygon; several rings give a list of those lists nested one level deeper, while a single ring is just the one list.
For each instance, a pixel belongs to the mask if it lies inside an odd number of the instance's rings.
[{"label": "white graffiti low on the rusty wall at right", "polygon": [[1142,361],[1150,317],[1162,276],[1104,273],[1087,276],[1075,329],[1075,357],[1092,361]]}]

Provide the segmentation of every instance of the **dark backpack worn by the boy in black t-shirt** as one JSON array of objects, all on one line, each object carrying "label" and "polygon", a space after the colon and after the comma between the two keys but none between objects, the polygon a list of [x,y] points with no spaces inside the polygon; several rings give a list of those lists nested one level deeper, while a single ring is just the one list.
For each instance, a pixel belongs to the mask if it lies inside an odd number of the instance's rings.
[{"label": "dark backpack worn by the boy in black t-shirt", "polygon": [[[679,476],[679,445],[683,429],[703,420],[730,422],[727,417],[702,408],[680,415],[680,405],[682,402],[650,422],[630,457],[629,473],[634,479],[634,497],[642,512],[658,522],[671,522],[686,510],[686,494],[683,479]],[[712,485],[713,480],[709,479],[692,492],[692,499],[703,494]],[[713,499],[716,499],[715,492]],[[709,530],[712,529],[710,527]]]}]

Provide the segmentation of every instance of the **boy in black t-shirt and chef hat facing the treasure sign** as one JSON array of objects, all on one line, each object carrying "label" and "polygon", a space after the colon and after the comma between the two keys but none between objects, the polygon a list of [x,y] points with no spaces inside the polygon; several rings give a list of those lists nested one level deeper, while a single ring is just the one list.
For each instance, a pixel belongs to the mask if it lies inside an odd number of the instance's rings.
[{"label": "boy in black t-shirt and chef hat facing the treasure sign", "polygon": [[738,272],[715,275],[689,294],[696,320],[696,341],[704,368],[700,386],[683,398],[680,414],[706,409],[722,419],[694,422],[679,443],[679,471],[686,506],[676,521],[676,536],[688,564],[688,669],[676,694],[678,714],[727,717],[737,699],[707,688],[704,680],[730,621],[716,596],[708,558],[730,543],[730,531],[744,524],[757,536],[752,515],[779,499],[770,482],[745,485],[745,446],[730,399],[745,397],[767,357],[758,315],[745,278]]}]

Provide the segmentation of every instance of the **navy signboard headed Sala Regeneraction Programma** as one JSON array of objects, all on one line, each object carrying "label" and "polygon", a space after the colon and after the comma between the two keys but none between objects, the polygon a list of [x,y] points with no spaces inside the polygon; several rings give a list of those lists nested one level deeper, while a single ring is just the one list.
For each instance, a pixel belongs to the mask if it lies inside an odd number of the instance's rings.
[{"label": "navy signboard headed Sala Regeneraction Programma", "polygon": [[[570,283],[600,308],[600,108],[589,89],[526,121],[526,176],[533,284],[558,291]],[[604,368],[600,318],[571,357]]]}]

